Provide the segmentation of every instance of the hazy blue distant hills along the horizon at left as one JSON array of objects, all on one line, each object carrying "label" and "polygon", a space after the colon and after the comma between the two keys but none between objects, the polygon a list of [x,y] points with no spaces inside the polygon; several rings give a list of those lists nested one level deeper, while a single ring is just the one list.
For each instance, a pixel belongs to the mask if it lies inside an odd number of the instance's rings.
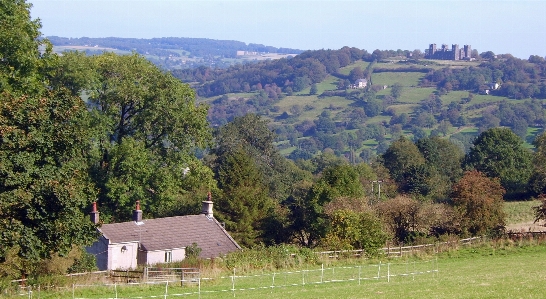
[{"label": "hazy blue distant hills along the horizon at left", "polygon": [[[276,58],[266,56],[275,53],[297,55],[299,49],[276,48],[261,44],[246,44],[239,41],[214,40],[207,38],[163,37],[151,39],[137,38],[66,38],[47,37],[58,52],[81,50],[88,54],[99,54],[104,50],[137,52],[165,69],[192,68],[202,65],[227,67],[236,62]],[[239,55],[237,55],[239,52]]]}]

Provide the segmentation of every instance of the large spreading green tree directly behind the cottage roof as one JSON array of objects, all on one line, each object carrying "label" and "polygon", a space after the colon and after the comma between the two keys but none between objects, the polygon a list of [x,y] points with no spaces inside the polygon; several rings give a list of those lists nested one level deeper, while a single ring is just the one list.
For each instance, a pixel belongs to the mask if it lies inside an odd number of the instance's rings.
[{"label": "large spreading green tree directly behind the cottage roof", "polygon": [[[68,58],[55,78],[89,96],[91,176],[104,219],[130,219],[136,200],[151,217],[195,213],[214,183],[194,154],[211,140],[194,91],[137,54]],[[82,65],[93,70],[87,80]]]}]

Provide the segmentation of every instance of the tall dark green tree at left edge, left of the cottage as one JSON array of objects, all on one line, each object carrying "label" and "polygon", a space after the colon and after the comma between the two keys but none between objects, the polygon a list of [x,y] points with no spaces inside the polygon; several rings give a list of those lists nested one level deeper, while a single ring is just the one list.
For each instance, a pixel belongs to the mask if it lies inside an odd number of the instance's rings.
[{"label": "tall dark green tree at left edge, left of the cottage", "polygon": [[0,1],[0,268],[12,276],[95,238],[87,217],[95,195],[88,111],[49,84],[43,72],[57,57],[39,40],[29,9],[25,1]]}]

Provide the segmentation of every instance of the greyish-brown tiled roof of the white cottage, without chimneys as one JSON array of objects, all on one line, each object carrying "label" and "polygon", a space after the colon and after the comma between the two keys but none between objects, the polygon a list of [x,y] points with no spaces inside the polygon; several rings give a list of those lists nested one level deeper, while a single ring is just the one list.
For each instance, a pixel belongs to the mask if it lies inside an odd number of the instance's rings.
[{"label": "greyish-brown tiled roof of the white cottage, without chimneys", "polygon": [[214,218],[204,214],[103,224],[100,232],[110,243],[138,242],[144,251],[183,248],[197,243],[200,257],[211,258],[241,247]]}]

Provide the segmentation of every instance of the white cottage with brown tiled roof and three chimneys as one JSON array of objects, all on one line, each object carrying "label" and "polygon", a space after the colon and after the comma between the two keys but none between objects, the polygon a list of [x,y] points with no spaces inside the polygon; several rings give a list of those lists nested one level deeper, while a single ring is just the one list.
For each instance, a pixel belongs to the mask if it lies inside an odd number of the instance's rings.
[{"label": "white cottage with brown tiled roof and three chimneys", "polygon": [[[91,221],[99,223],[96,203],[93,203]],[[133,221],[103,224],[98,230],[101,236],[87,252],[95,255],[100,270],[181,261],[186,256],[186,247],[193,243],[201,248],[201,258],[241,249],[214,218],[210,194],[208,200],[203,201],[199,215],[143,220],[137,201]]]}]

